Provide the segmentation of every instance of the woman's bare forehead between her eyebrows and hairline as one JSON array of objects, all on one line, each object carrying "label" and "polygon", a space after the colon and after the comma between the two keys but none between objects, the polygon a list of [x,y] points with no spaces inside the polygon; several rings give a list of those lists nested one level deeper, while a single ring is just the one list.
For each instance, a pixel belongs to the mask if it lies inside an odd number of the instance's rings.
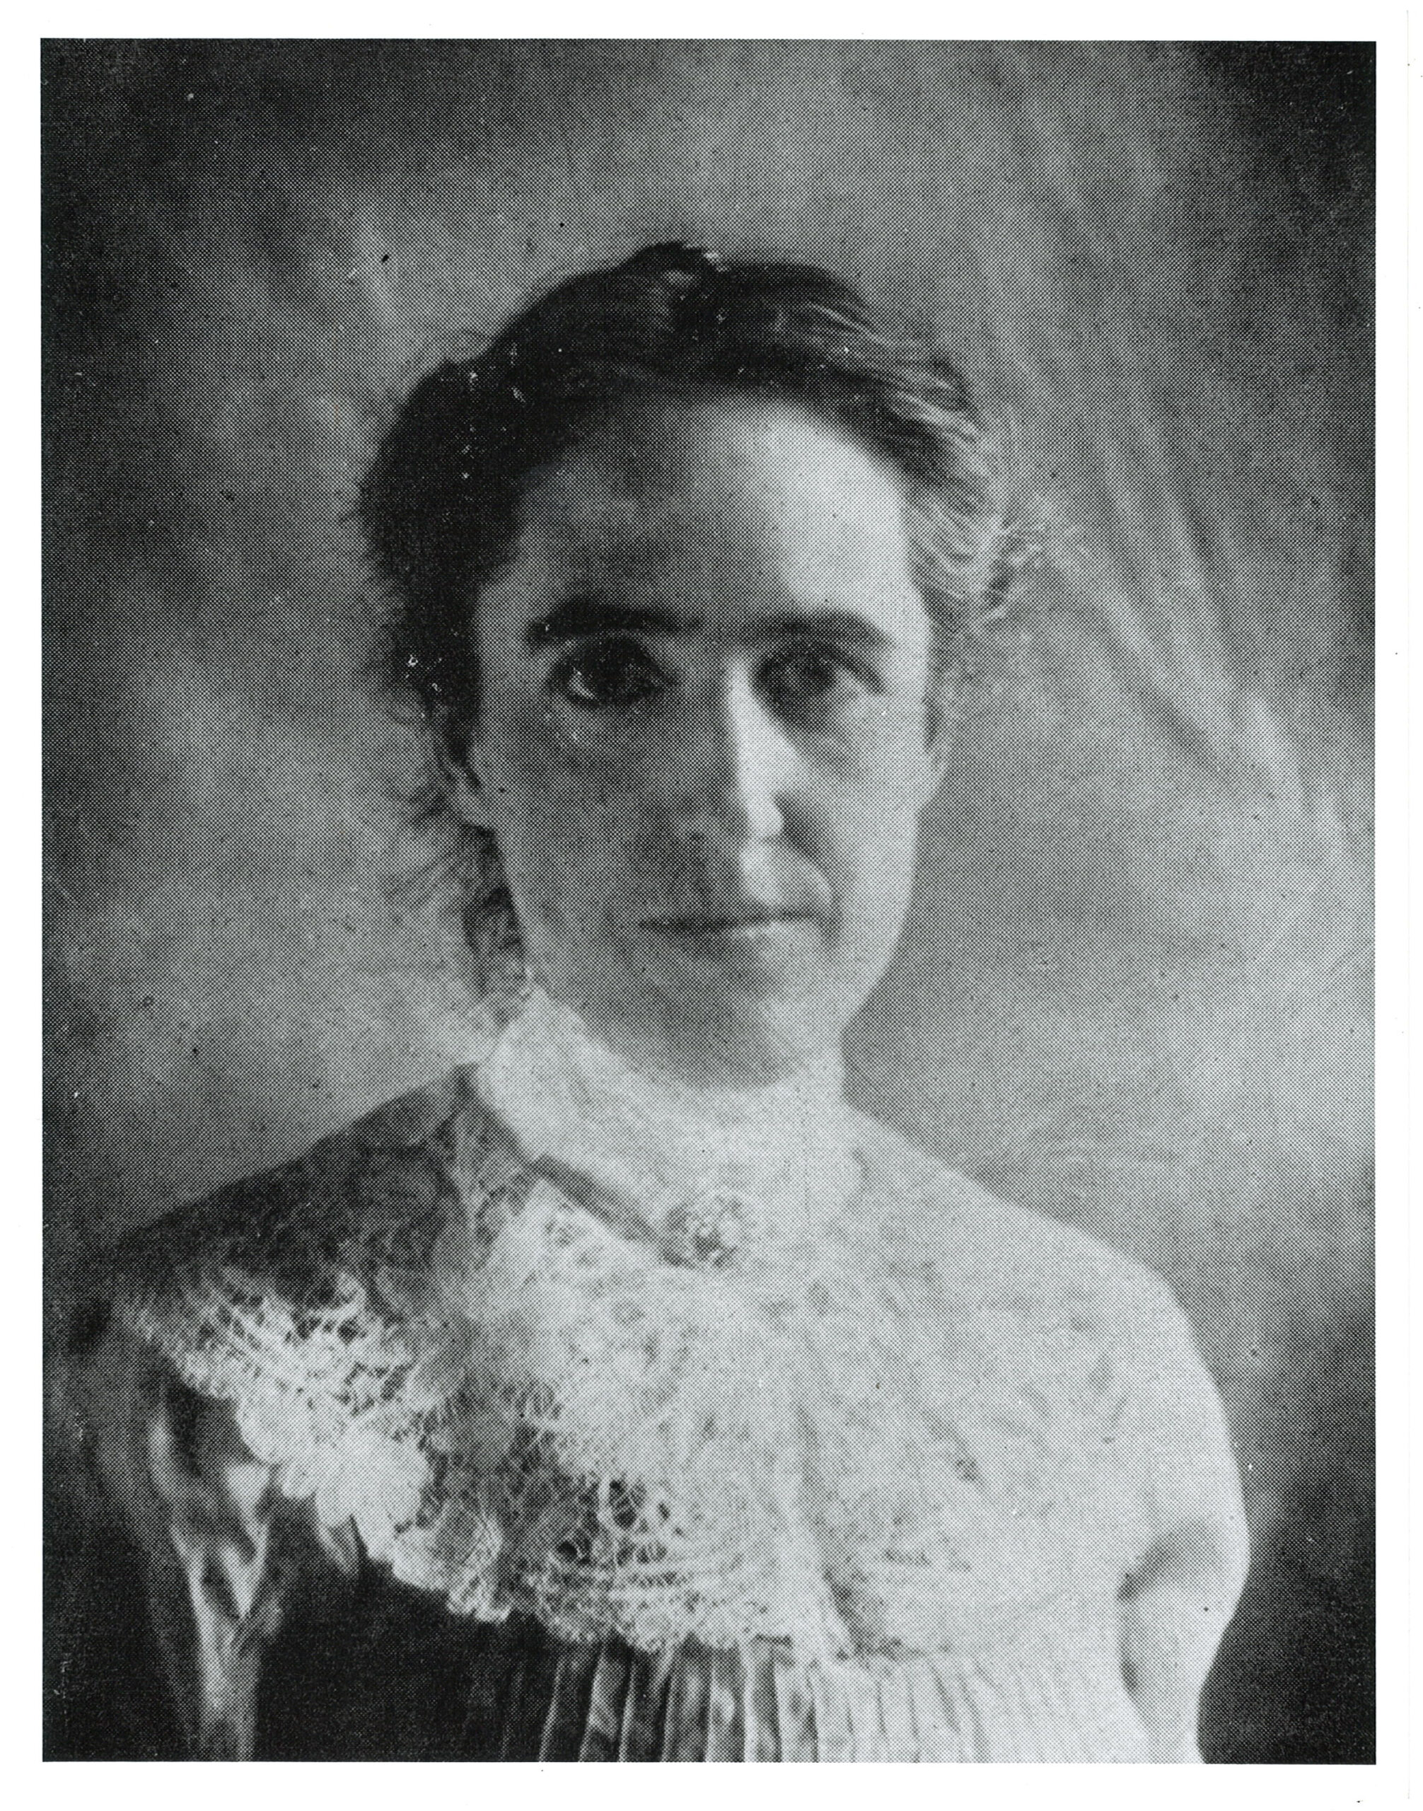
[{"label": "woman's bare forehead between her eyebrows and hairline", "polygon": [[898,478],[833,427],[755,400],[603,422],[527,496],[509,576],[530,607],[679,590],[713,619],[768,603],[922,614]]}]

